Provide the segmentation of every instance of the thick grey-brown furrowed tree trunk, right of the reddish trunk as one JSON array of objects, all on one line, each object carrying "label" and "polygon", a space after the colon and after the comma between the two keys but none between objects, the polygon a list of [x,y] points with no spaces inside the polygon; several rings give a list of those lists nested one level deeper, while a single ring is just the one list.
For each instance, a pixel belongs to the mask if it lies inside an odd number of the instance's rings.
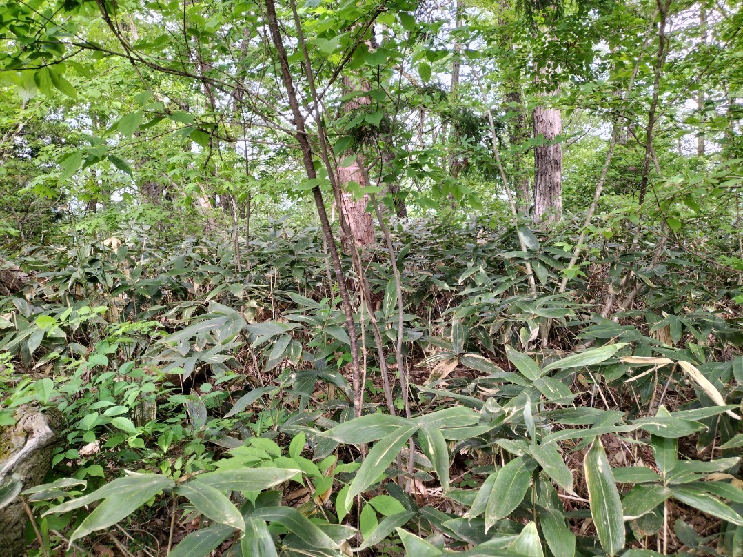
[{"label": "thick grey-brown furrowed tree trunk, right of the reddish trunk", "polygon": [[556,222],[562,218],[562,145],[553,142],[562,133],[562,115],[559,108],[537,106],[533,119],[534,137],[545,142],[534,148],[533,221]]}]

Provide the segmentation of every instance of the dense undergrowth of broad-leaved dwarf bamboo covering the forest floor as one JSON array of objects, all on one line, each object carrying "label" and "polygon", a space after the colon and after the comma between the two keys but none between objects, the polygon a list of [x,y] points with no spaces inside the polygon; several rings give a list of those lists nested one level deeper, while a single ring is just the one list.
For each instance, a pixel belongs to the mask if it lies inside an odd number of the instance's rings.
[{"label": "dense undergrowth of broad-leaved dwarf bamboo covering the forest floor", "polygon": [[354,417],[321,238],[144,228],[4,263],[0,427],[62,418],[47,483],[0,488],[28,555],[743,554],[740,273],[625,231],[566,274],[559,230],[400,221],[399,284],[381,241],[348,273]]}]

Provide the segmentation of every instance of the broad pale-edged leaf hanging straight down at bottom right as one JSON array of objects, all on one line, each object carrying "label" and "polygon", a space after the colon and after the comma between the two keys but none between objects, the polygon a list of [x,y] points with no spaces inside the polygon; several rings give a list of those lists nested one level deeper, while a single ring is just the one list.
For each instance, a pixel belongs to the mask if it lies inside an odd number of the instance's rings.
[{"label": "broad pale-edged leaf hanging straight down at bottom right", "polygon": [[588,500],[591,501],[591,518],[601,547],[609,556],[614,556],[623,549],[625,541],[622,502],[600,438],[594,440],[585,454],[583,469]]}]

